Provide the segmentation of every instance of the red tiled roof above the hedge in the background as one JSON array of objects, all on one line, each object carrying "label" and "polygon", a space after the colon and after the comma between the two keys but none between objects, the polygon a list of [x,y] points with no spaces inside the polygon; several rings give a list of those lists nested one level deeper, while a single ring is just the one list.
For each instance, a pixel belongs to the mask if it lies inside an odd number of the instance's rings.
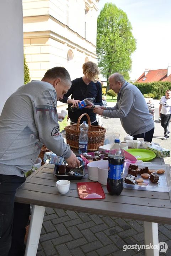
[{"label": "red tiled roof above the hedge in the background", "polygon": [[[143,81],[144,78],[146,79]],[[150,70],[146,75],[143,72],[135,82],[171,81],[170,79],[170,76],[167,77],[167,69],[156,69]]]}]

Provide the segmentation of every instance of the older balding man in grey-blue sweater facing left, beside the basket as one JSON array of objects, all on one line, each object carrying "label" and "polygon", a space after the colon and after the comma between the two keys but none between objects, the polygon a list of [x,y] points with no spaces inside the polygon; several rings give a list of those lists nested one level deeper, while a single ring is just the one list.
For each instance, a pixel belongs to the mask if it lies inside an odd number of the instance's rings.
[{"label": "older balding man in grey-blue sweater facing left, beside the basket", "polygon": [[93,112],[110,118],[120,118],[125,132],[134,139],[144,138],[151,142],[154,134],[154,121],[149,113],[144,96],[135,86],[125,81],[119,73],[109,77],[110,89],[118,94],[115,107],[98,107]]}]

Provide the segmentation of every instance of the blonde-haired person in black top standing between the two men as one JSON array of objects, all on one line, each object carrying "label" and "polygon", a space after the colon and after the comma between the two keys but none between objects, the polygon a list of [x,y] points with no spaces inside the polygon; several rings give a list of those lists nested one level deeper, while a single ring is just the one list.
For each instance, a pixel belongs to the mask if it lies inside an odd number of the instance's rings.
[{"label": "blonde-haired person in black top standing between the two men", "polygon": [[[72,81],[70,89],[60,101],[68,103],[68,115],[71,124],[76,124],[81,114],[87,113],[90,117],[91,124],[98,126],[96,114],[93,113],[93,107],[94,105],[102,106],[102,86],[101,83],[97,81],[99,70],[97,64],[90,61],[82,65],[82,70],[84,75]],[[71,98],[68,98],[70,95]],[[71,106],[78,107],[78,103],[82,100],[93,97],[95,100],[85,108],[77,109],[74,112],[71,110]],[[80,123],[83,121],[87,122],[86,116],[81,119]]]}]

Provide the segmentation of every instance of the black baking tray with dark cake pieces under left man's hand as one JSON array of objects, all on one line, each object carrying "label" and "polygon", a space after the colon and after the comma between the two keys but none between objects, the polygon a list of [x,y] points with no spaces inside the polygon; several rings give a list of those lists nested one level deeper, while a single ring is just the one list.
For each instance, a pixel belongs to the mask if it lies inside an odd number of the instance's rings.
[{"label": "black baking tray with dark cake pieces under left man's hand", "polygon": [[58,174],[59,172],[59,166],[55,165],[53,174],[57,177],[57,180],[81,180],[83,176],[85,176],[85,166],[84,161],[82,160],[82,163],[80,162],[80,165],[82,165],[79,168],[75,168],[72,171],[75,172],[74,176],[68,175],[67,172],[64,174]]}]

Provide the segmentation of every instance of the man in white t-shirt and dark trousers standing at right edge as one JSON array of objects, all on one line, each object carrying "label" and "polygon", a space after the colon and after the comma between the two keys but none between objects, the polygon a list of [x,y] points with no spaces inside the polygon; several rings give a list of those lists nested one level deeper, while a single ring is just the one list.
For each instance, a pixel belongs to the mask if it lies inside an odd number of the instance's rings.
[{"label": "man in white t-shirt and dark trousers standing at right edge", "polygon": [[164,137],[162,140],[169,138],[169,123],[171,118],[171,90],[166,90],[166,96],[162,96],[159,102],[159,116],[161,126],[164,128]]}]

